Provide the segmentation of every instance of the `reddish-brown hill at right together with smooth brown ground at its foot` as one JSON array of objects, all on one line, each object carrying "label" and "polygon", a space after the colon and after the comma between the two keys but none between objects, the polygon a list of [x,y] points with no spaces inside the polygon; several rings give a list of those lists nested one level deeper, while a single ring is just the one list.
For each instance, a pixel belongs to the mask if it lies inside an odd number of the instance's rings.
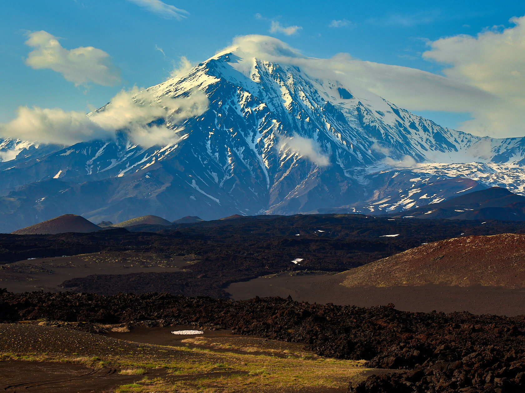
[{"label": "reddish-brown hill at right together with smooth brown ground at its foot", "polygon": [[430,243],[337,275],[283,273],[232,283],[233,299],[394,303],[405,311],[525,314],[525,236],[467,236]]}]

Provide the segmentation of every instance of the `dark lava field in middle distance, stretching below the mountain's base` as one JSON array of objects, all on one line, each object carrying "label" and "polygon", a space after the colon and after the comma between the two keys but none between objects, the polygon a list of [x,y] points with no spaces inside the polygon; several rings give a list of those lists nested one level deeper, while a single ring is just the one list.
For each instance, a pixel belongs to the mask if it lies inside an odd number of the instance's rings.
[{"label": "dark lava field in middle distance, stretching below the mountain's base", "polygon": [[[525,233],[525,223],[387,219],[363,215],[255,216],[178,224],[156,233],[115,228],[90,234],[0,235],[0,263],[98,252],[193,255],[181,272],[93,275],[64,288],[85,292],[165,291],[228,297],[229,283],[282,271],[340,272],[450,237]],[[385,235],[398,234],[395,237]],[[299,264],[292,260],[302,258]]]}]

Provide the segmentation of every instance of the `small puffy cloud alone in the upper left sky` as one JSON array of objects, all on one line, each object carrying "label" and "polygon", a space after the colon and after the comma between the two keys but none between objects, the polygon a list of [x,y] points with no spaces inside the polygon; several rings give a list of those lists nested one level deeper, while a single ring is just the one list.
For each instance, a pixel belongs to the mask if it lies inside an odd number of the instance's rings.
[{"label": "small puffy cloud alone in the upper left sky", "polygon": [[89,82],[103,86],[120,83],[119,68],[101,49],[79,47],[68,50],[60,45],[57,37],[44,30],[30,33],[25,43],[35,48],[26,59],[26,64],[33,69],[48,68],[59,72],[76,86]]}]

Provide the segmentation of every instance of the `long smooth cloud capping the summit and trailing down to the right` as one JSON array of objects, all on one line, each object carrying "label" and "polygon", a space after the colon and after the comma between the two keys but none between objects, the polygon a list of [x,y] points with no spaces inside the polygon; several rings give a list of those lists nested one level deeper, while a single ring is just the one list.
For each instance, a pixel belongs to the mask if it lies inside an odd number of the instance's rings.
[{"label": "long smooth cloud capping the summit and trailing down to the right", "polygon": [[[521,28],[521,19],[519,26]],[[503,33],[491,31],[490,34]],[[465,122],[460,129],[476,135],[495,137],[525,135],[523,127],[525,111],[518,105],[525,96],[525,84],[518,83],[518,79],[514,79],[513,87],[513,91],[518,94],[507,97],[503,93],[497,93],[504,92],[505,89],[487,89],[482,84],[473,83],[467,78],[363,61],[352,58],[348,53],[338,53],[329,59],[306,57],[274,37],[257,35],[237,37],[233,45],[225,50],[233,49],[239,50],[243,54],[242,57],[252,56],[262,60],[297,65],[311,77],[340,82],[360,98],[366,99],[366,94],[374,93],[409,111],[469,113],[474,120]],[[523,53],[523,50],[517,46],[514,49]],[[430,58],[428,53],[426,58]],[[514,64],[517,67],[517,64]],[[502,78],[507,72],[505,70],[505,68],[500,69]],[[518,70],[519,68],[513,71]],[[513,78],[518,77],[519,75]],[[524,94],[520,95],[520,91]],[[513,102],[515,97],[518,98]]]}]

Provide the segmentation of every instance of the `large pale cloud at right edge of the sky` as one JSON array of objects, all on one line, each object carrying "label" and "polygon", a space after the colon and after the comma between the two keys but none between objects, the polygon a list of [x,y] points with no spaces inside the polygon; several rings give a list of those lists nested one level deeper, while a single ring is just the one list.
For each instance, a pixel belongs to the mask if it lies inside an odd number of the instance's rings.
[{"label": "large pale cloud at right edge of the sky", "polygon": [[448,80],[473,86],[495,97],[494,105],[472,103],[467,130],[525,135],[525,16],[513,27],[494,27],[476,37],[458,35],[430,42],[427,60],[447,64]]}]

